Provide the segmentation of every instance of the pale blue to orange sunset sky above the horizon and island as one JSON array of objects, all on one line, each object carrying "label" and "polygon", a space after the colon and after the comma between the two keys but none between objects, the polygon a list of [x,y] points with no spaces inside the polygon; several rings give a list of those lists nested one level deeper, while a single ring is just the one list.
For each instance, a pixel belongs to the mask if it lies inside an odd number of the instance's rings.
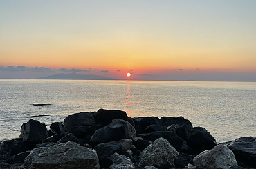
[{"label": "pale blue to orange sunset sky above the horizon and island", "polygon": [[70,72],[256,81],[256,1],[0,1],[0,78]]}]

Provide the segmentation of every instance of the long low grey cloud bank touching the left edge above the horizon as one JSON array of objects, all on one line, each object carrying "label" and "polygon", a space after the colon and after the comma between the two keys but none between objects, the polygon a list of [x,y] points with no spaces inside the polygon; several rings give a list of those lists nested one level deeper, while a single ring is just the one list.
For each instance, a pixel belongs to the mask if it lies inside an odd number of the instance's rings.
[{"label": "long low grey cloud bank touching the left edge above the horizon", "polygon": [[22,72],[22,71],[44,72],[44,71],[50,71],[50,70],[51,68],[46,68],[46,67],[0,66],[0,71],[6,71],[6,72]]}]

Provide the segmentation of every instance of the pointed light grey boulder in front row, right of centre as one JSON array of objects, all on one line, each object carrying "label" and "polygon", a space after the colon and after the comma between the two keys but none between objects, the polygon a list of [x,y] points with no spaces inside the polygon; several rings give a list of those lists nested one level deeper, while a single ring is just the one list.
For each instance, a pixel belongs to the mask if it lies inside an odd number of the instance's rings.
[{"label": "pointed light grey boulder in front row, right of centre", "polygon": [[178,155],[179,152],[166,139],[159,138],[140,153],[139,166],[172,166]]}]

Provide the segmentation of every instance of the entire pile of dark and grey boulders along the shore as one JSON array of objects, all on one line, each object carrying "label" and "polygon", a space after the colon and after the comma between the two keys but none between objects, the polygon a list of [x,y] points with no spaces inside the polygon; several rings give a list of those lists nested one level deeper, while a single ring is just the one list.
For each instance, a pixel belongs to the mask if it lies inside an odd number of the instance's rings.
[{"label": "entire pile of dark and grey boulders along the shore", "polygon": [[183,117],[80,112],[46,126],[31,119],[0,143],[0,168],[256,168],[256,139],[217,144]]}]

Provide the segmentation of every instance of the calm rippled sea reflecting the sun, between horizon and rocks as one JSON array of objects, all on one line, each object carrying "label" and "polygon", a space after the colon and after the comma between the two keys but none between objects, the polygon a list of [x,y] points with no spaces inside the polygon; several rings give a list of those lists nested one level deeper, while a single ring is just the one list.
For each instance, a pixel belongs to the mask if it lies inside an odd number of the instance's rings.
[{"label": "calm rippled sea reflecting the sun, between horizon and rocks", "polygon": [[[0,141],[19,137],[29,119],[48,127],[100,108],[124,110],[129,117],[183,116],[218,143],[256,137],[256,83],[0,79]],[[32,117],[38,115],[48,116]]]}]

